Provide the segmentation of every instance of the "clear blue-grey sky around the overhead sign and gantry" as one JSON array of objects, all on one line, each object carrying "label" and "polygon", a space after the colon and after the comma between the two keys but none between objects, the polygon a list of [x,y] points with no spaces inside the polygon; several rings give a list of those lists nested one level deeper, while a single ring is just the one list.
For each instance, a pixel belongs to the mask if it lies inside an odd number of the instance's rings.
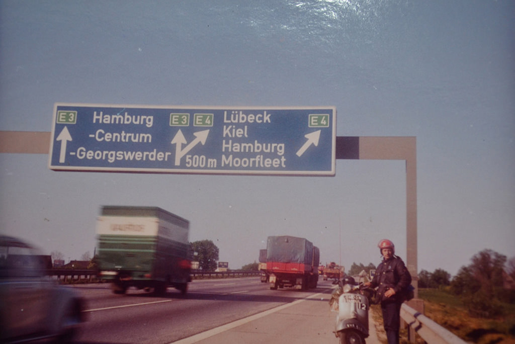
[{"label": "clear blue-grey sky around the overhead sign and gantry", "polygon": [[[337,109],[337,136],[415,136],[418,271],[515,256],[512,1],[0,0],[0,130],[49,132],[56,102]],[[102,205],[190,220],[237,269],[269,235],[322,263],[406,259],[405,163],[337,160],[334,177],[53,171],[0,153],[0,232],[92,255]]]}]

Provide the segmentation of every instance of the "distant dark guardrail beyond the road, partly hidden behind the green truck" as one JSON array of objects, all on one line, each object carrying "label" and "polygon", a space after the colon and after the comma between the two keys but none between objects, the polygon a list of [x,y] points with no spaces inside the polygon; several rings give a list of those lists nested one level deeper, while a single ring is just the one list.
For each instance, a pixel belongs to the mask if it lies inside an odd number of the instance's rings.
[{"label": "distant dark guardrail beyond the road, partly hidden behind the green truck", "polygon": [[[72,279],[73,281],[87,280],[93,281],[96,277],[96,270],[76,270],[76,269],[49,269],[47,271],[48,276],[55,276],[57,280],[63,279],[64,282]],[[241,271],[241,270],[229,270],[229,271],[203,271],[203,270],[192,270],[192,279],[202,278],[229,278],[229,277],[252,277],[259,276],[259,271]]]}]

